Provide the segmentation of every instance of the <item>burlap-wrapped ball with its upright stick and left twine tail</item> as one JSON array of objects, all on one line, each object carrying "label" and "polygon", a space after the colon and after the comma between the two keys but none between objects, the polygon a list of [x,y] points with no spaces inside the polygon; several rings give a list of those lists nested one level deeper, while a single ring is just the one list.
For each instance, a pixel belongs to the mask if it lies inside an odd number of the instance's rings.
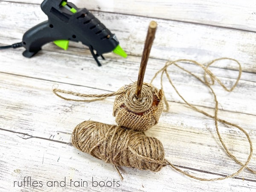
[{"label": "burlap-wrapped ball with its upright stick and left twine tail", "polygon": [[[143,83],[145,70],[154,41],[157,23],[151,21],[148,27],[148,33],[145,40],[143,56],[141,58],[138,80],[135,83],[125,85],[115,93],[88,95],[54,89],[54,93],[62,99],[72,101],[96,101],[108,96],[116,96],[113,106],[113,116],[116,116],[116,123],[119,126],[135,131],[146,131],[156,125],[161,113],[163,112],[163,90],[158,90],[152,84]],[[92,100],[67,99],[59,93],[71,94],[80,97],[97,97]]]}]

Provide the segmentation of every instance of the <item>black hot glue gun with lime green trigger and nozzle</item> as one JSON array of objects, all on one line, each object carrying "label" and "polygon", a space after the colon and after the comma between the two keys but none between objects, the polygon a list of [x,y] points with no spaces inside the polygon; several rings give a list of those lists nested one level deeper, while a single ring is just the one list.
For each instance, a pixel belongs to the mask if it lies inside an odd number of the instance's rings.
[{"label": "black hot glue gun with lime green trigger and nozzle", "polygon": [[[67,0],[44,0],[41,9],[48,16],[48,20],[29,29],[21,43],[0,47],[17,48],[25,47],[23,55],[31,58],[44,44],[51,41],[67,50],[69,41],[81,41],[87,45],[101,66],[98,57],[106,52],[114,52],[124,58],[126,53],[119,46],[116,35],[112,34],[93,14],[87,9],[78,9]],[[96,53],[94,52],[96,51]]]}]

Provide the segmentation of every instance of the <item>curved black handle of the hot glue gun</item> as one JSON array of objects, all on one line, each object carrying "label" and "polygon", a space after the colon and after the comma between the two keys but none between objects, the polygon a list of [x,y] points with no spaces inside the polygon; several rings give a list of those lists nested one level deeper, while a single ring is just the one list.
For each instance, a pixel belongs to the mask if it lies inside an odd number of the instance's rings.
[{"label": "curved black handle of the hot glue gun", "polygon": [[32,27],[23,35],[22,44],[23,47],[26,48],[23,52],[23,56],[31,58],[41,50],[41,47],[44,44],[61,39],[61,36],[61,33],[59,33],[58,30],[55,30],[55,26],[49,21],[45,21]]}]

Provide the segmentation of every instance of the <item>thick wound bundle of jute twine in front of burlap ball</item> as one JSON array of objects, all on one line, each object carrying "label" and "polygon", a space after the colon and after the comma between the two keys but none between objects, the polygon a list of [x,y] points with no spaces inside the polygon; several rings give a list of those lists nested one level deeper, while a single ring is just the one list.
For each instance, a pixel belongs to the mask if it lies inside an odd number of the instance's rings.
[{"label": "thick wound bundle of jute twine in front of burlap ball", "polygon": [[116,166],[153,172],[166,166],[162,143],[140,131],[84,121],[74,129],[71,142],[79,150]]}]

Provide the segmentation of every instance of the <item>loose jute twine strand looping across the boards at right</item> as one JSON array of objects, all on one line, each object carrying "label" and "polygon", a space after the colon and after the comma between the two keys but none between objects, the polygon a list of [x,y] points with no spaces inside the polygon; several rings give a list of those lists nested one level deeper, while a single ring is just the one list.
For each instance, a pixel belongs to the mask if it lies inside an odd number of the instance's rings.
[{"label": "loose jute twine strand looping across the boards at right", "polygon": [[[235,84],[230,88],[228,89],[209,69],[208,67],[213,64],[215,61],[220,61],[220,60],[224,60],[224,59],[227,59],[227,60],[232,60],[232,61],[235,61],[238,65],[239,65],[239,75],[236,79],[236,82]],[[190,62],[192,64],[195,64],[195,65],[198,65],[199,67],[201,67],[203,70],[204,70],[204,80],[202,80],[200,77],[194,75],[193,73],[191,73],[190,71],[184,69],[183,67],[180,67],[178,64],[176,64],[177,62]],[[172,83],[172,80],[169,76],[169,73],[167,71],[167,68],[171,65],[175,65],[176,67],[179,67],[181,70],[184,70],[186,73],[189,73],[190,75],[194,76],[196,79],[198,79],[199,81],[201,81],[203,84],[205,84],[207,87],[209,87],[210,91],[212,92],[213,96],[214,96],[214,101],[215,101],[215,113],[214,113],[214,116],[210,115],[209,113],[203,111],[203,110],[200,110],[198,109],[197,107],[195,107],[194,105],[190,104],[189,102],[186,101],[186,99],[183,98],[183,96],[180,95],[179,91],[177,90],[177,88],[175,87],[175,85]],[[188,177],[192,177],[194,179],[197,179],[197,180],[203,180],[203,181],[210,181],[210,180],[223,180],[223,179],[226,179],[226,178],[230,178],[230,177],[233,177],[235,175],[238,175],[240,172],[243,171],[244,168],[246,168],[247,170],[249,170],[250,172],[256,174],[256,171],[253,171],[252,169],[248,168],[247,165],[248,163],[250,162],[250,159],[253,155],[253,145],[252,145],[252,142],[250,140],[250,136],[249,134],[247,134],[247,132],[241,128],[239,125],[236,125],[236,124],[233,124],[233,123],[230,123],[230,122],[227,122],[223,119],[219,119],[218,118],[218,100],[217,100],[217,97],[216,97],[216,94],[215,92],[212,90],[212,87],[211,85],[214,84],[215,81],[217,81],[221,87],[224,88],[224,90],[226,91],[232,91],[236,85],[238,84],[238,81],[239,79],[241,78],[241,72],[242,72],[242,69],[241,69],[241,64],[235,60],[235,59],[232,59],[232,58],[218,58],[218,59],[215,59],[213,61],[211,61],[209,64],[207,64],[207,66],[205,67],[203,64],[199,64],[198,62],[196,61],[193,61],[193,60],[188,60],[188,59],[180,59],[180,60],[176,60],[176,61],[168,61],[166,62],[166,65],[165,67],[163,67],[161,70],[159,70],[155,76],[153,77],[153,79],[151,80],[151,83],[152,81],[154,81],[154,79],[157,77],[157,75],[159,73],[161,73],[161,88],[163,89],[163,74],[165,73],[166,74],[166,77],[167,79],[169,80],[170,84],[172,85],[172,87],[174,88],[175,92],[178,94],[178,96],[180,96],[180,98],[187,104],[189,105],[189,107],[193,108],[195,111],[198,111],[212,119],[214,119],[215,121],[215,128],[216,128],[216,132],[217,132],[217,135],[218,135],[218,139],[220,140],[221,142],[221,145],[223,146],[223,148],[225,149],[226,153],[236,162],[236,163],[239,163],[241,165],[241,168],[236,172],[236,173],[233,173],[232,175],[228,175],[226,177],[220,177],[220,178],[214,178],[214,179],[204,179],[204,178],[199,178],[199,177],[195,177],[193,175],[190,175],[190,174],[187,174],[186,172],[182,171],[181,169],[178,169],[177,167],[175,167],[174,165],[172,165],[172,163],[170,163],[168,160],[166,160],[166,162],[172,166],[172,168],[174,168],[175,170],[177,170],[178,172],[181,172],[183,173],[184,175],[188,176]],[[209,82],[207,80],[207,75],[210,77],[211,79],[211,82]],[[166,111],[169,111],[169,104],[166,100],[166,97],[164,98],[164,102],[166,104]],[[248,155],[247,157],[247,161],[245,163],[241,163],[241,161],[239,161],[227,148],[227,146],[225,145],[224,141],[222,140],[222,137],[219,133],[219,130],[218,130],[218,122],[221,122],[221,123],[224,123],[224,124],[227,124],[227,125],[231,125],[233,127],[236,127],[238,128],[240,131],[242,131],[246,137],[247,137],[247,140],[250,144],[250,154]]]}]

